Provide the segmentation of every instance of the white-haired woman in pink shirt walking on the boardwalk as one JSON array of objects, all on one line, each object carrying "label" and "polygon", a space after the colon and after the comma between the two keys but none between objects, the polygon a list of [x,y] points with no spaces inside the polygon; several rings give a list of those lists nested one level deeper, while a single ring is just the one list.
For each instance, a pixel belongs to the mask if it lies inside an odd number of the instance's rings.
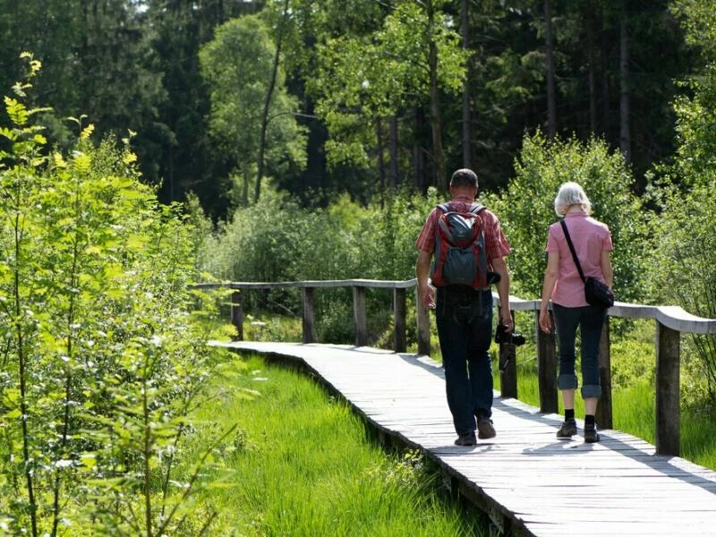
[{"label": "white-haired woman in pink shirt walking on the boardwalk", "polygon": [[554,209],[562,221],[550,226],[547,238],[547,269],[544,273],[540,304],[540,327],[550,333],[552,322],[547,311],[552,301],[559,354],[557,385],[562,393],[565,421],[557,431],[558,439],[576,434],[575,374],[576,330],[582,336],[582,397],[584,398],[584,441],[599,442],[594,414],[601,396],[599,377],[599,342],[607,311],[592,306],[584,298],[584,282],[579,275],[567,243],[574,244],[576,257],[585,277],[595,277],[612,286],[612,249],[609,227],[589,216],[592,204],[577,183],[564,183],[554,200]]}]

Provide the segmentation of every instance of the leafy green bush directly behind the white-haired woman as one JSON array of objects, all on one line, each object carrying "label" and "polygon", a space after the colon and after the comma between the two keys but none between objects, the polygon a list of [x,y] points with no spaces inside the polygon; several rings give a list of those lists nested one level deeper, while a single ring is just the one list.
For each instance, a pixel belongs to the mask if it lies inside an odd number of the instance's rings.
[{"label": "leafy green bush directly behind the white-haired woman", "polygon": [[638,301],[644,294],[648,213],[633,193],[634,179],[624,159],[610,152],[604,141],[548,141],[540,132],[524,138],[516,176],[507,189],[482,196],[500,218],[513,248],[508,258],[511,293],[523,298],[541,295],[547,230],[558,221],[554,199],[559,185],[567,181],[584,187],[592,201],[592,216],[609,226],[618,300]]}]

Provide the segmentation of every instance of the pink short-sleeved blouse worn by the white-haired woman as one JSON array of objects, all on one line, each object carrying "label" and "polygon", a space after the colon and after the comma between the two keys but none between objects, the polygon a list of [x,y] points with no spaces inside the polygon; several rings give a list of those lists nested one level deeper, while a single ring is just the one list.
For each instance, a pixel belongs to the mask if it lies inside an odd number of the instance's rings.
[{"label": "pink short-sleeved blouse worn by the white-haired woman", "polygon": [[[609,227],[584,211],[568,213],[565,222],[572,243],[575,245],[576,257],[582,265],[584,277],[596,277],[603,282],[601,251],[611,251],[613,248]],[[559,222],[550,226],[545,251],[559,253],[558,277],[552,290],[552,302],[568,308],[589,305],[584,299],[584,283],[579,277],[575,261],[572,260],[572,253],[569,251],[567,239]]]}]

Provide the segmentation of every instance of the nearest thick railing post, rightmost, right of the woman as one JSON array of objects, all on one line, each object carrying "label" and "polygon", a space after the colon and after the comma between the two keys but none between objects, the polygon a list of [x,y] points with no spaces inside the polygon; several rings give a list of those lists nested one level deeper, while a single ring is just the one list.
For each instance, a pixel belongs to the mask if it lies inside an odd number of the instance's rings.
[{"label": "nearest thick railing post, rightmost, right of the woman", "polygon": [[679,456],[681,334],[656,321],[656,453]]}]

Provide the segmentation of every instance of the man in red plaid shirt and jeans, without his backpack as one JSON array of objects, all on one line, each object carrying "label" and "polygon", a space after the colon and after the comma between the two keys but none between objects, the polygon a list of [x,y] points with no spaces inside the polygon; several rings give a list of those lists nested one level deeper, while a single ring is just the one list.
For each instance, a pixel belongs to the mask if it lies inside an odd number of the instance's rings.
[{"label": "man in red plaid shirt and jeans, without his backpack", "polygon": [[[435,308],[445,368],[447,405],[453,416],[458,435],[455,443],[458,446],[474,446],[477,443],[475,429],[480,439],[491,439],[496,434],[490,419],[492,365],[488,352],[492,334],[492,292],[487,284],[477,287],[451,285],[446,284],[442,277],[439,282],[433,282],[435,286],[430,282],[430,260],[440,241],[439,219],[445,209],[472,214],[477,222],[475,225],[482,226],[487,274],[491,276],[488,283],[497,280],[499,323],[506,326],[507,332],[513,329],[509,311],[509,274],[505,261],[510,246],[498,217],[474,204],[477,194],[477,175],[470,169],[457,170],[450,179],[451,200],[432,209],[415,243],[419,250],[415,264],[418,295],[422,304]],[[436,256],[438,262],[440,260]],[[479,267],[479,263],[476,266]],[[480,281],[484,282],[484,279]]]}]

